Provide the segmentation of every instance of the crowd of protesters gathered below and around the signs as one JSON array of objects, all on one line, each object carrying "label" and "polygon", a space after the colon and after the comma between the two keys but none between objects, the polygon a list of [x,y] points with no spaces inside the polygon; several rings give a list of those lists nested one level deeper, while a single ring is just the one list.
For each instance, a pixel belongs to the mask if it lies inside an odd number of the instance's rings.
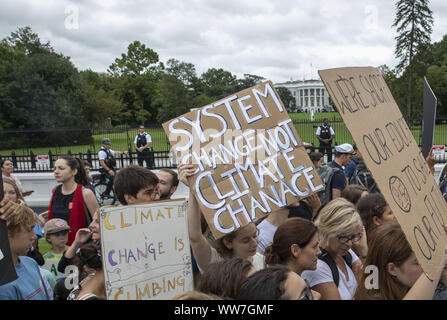
[{"label": "crowd of protesters gathered below and around the signs", "polygon": [[[146,137],[136,142],[141,152],[149,145]],[[173,299],[445,300],[447,255],[434,279],[428,279],[380,190],[371,192],[353,180],[362,164],[358,150],[347,143],[334,150],[334,160],[328,163],[323,154],[310,154],[319,173],[333,171],[327,198],[314,194],[297,199],[219,239],[210,235],[190,192],[187,222],[197,266],[194,290]],[[427,164],[433,172],[432,155]],[[106,161],[102,168],[110,169]],[[180,164],[177,172],[163,169],[155,174],[131,165],[112,171],[120,205],[135,205],[171,199],[179,182],[188,186],[195,168]],[[49,195],[48,212],[40,215],[26,206],[17,183],[10,176],[3,178],[7,196],[0,218],[7,221],[18,279],[0,286],[0,299],[106,299],[99,204],[88,187],[85,165],[75,157],[61,157],[54,175],[60,184]],[[43,257],[38,237],[51,245]],[[76,266],[79,281],[69,290],[70,266]],[[377,267],[378,286],[366,285],[366,266]]]}]

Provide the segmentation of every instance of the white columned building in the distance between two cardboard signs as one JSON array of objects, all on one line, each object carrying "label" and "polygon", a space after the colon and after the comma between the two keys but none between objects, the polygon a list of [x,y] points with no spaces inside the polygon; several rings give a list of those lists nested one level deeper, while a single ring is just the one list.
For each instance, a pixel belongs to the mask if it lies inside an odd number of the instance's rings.
[{"label": "white columned building in the distance between two cardboard signs", "polygon": [[295,98],[297,111],[323,112],[334,111],[329,103],[329,95],[321,80],[287,81],[276,83],[275,87],[289,89]]}]

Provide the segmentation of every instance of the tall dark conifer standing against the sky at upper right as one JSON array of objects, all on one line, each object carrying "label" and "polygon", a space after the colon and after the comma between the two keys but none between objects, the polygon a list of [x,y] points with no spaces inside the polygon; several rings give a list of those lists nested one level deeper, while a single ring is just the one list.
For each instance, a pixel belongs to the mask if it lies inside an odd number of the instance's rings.
[{"label": "tall dark conifer standing against the sky at upper right", "polygon": [[407,117],[412,116],[412,100],[414,85],[413,58],[418,50],[430,43],[433,26],[433,12],[429,8],[429,0],[398,0],[396,3],[396,18],[393,27],[396,27],[395,55],[399,59],[396,67],[398,72],[406,69],[408,72],[407,90]]}]

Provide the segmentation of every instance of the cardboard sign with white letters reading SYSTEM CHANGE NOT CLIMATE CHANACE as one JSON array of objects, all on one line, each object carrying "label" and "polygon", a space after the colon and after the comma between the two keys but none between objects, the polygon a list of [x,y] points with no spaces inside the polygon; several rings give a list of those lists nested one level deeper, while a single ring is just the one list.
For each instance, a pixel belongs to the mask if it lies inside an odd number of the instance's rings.
[{"label": "cardboard sign with white letters reading SYSTEM CHANGE NOT CLIMATE CHANACE", "polygon": [[323,189],[270,81],[163,124],[215,238]]}]

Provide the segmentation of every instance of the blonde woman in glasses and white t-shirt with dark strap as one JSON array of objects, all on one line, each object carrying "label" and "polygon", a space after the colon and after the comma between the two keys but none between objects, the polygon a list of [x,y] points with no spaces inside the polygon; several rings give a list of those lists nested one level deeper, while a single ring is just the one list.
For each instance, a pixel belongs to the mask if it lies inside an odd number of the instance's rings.
[{"label": "blonde woman in glasses and white t-shirt with dark strap", "polygon": [[315,221],[322,254],[316,270],[301,276],[322,300],[351,300],[361,277],[362,262],[352,250],[363,236],[363,224],[355,206],[344,198],[329,202]]}]

